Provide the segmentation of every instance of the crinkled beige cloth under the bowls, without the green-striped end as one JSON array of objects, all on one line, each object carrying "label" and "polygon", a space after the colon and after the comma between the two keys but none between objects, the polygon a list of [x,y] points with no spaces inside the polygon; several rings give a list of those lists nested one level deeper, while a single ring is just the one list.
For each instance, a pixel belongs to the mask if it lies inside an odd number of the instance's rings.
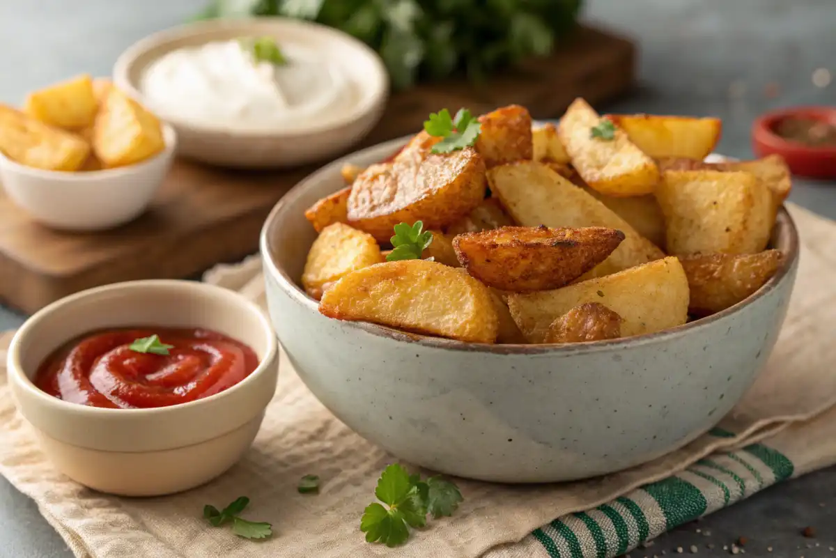
[{"label": "crinkled beige cloth under the bowls, without the green-striped end", "polygon": [[[380,470],[394,458],[334,418],[284,356],[276,395],[242,461],[196,490],[149,499],[102,495],[57,473],[16,411],[0,366],[0,473],[37,502],[78,556],[512,558],[528,555],[531,537],[525,537],[540,525],[665,478],[717,449],[765,440],[796,462],[796,474],[822,468],[836,462],[836,223],[796,206],[790,211],[802,238],[798,282],[766,370],[720,424],[741,433],[736,438],[704,436],[649,464],[576,483],[507,486],[460,480],[465,496],[460,510],[431,522],[393,551],[366,543],[359,517],[373,500]],[[219,266],[205,279],[264,304],[257,258]],[[0,337],[0,363],[5,363],[9,338]],[[309,473],[323,479],[319,495],[296,490],[298,479]],[[272,539],[238,539],[202,520],[203,505],[226,505],[240,495],[252,500],[245,517],[273,524]]]}]

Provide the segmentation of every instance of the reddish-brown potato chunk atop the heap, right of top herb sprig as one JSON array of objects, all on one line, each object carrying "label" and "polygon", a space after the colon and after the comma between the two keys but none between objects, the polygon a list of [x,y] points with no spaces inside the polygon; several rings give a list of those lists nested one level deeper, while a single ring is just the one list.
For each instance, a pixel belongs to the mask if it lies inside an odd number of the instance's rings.
[{"label": "reddish-brown potato chunk atop the heap, right of top herb sprig", "polygon": [[476,150],[485,166],[502,165],[532,157],[531,114],[528,109],[511,104],[479,117],[482,124]]}]

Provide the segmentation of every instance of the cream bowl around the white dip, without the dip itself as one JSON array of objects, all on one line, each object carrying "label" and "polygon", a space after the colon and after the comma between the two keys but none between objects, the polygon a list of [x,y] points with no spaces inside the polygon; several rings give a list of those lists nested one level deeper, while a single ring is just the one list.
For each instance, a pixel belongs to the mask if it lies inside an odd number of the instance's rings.
[{"label": "cream bowl around the white dip, without the dip itself", "polygon": [[[360,77],[359,102],[338,120],[300,129],[242,130],[199,124],[145,99],[145,69],[177,48],[211,41],[268,36],[322,50]],[[117,87],[172,124],[179,155],[211,165],[241,169],[280,168],[327,160],[344,153],[377,124],[389,96],[389,76],[374,50],[334,28],[290,18],[235,18],[188,23],[141,39],[122,53],[113,70]]]}]

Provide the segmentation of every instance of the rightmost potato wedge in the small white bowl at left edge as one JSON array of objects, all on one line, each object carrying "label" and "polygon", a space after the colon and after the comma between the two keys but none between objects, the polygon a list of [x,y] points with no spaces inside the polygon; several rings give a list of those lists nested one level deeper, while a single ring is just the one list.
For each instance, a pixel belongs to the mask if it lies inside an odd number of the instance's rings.
[{"label": "rightmost potato wedge in the small white bowl at left edge", "polygon": [[133,165],[166,148],[160,120],[119,89],[110,88],[96,115],[93,150],[108,168]]}]

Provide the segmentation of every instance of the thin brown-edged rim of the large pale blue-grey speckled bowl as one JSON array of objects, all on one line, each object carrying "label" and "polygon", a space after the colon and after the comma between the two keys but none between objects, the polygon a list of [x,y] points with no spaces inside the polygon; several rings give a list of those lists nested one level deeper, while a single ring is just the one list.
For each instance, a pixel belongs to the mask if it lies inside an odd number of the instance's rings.
[{"label": "thin brown-edged rim of the large pale blue-grey speckled bowl", "polygon": [[[261,251],[265,272],[273,277],[275,282],[278,284],[278,287],[283,289],[285,294],[287,294],[293,302],[307,308],[310,312],[319,312],[319,303],[313,298],[308,297],[308,294],[303,292],[302,288],[299,287],[290,276],[288,276],[287,271],[279,268],[276,261],[273,260],[273,252],[270,249],[270,233],[273,230],[273,227],[276,226],[276,223],[280,221],[280,216],[283,211],[285,211],[285,208],[289,205],[293,205],[293,202],[303,195],[309,184],[322,180],[321,177],[323,175],[339,174],[334,173],[334,171],[339,171],[339,168],[342,167],[342,165],[351,163],[353,160],[364,156],[370,156],[377,152],[385,153],[386,150],[392,150],[394,152],[411,137],[412,135],[410,134],[400,138],[390,139],[389,141],[372,145],[364,150],[355,151],[354,153],[340,157],[338,160],[334,160],[328,165],[324,165],[319,170],[315,170],[313,173],[303,178],[303,180],[299,181],[297,185],[294,185],[291,190],[288,190],[288,193],[283,195],[282,199],[278,200],[278,203],[273,206],[273,210],[270,211],[270,214],[268,215],[267,220],[264,221],[264,225],[262,227],[259,238],[259,250]],[[339,188],[334,189],[334,191],[336,190],[339,190]],[[793,217],[790,216],[789,212],[783,205],[781,205],[777,212],[776,222],[778,221],[782,223],[782,236],[786,239],[788,246],[786,252],[782,254],[782,261],[777,271],[766,283],[762,285],[762,287],[752,293],[749,297],[743,299],[741,302],[737,302],[734,306],[728,307],[721,312],[717,312],[716,314],[712,314],[708,317],[696,319],[693,322],[686,322],[680,326],[670,327],[660,332],[644,333],[642,335],[635,335],[632,337],[619,337],[617,339],[606,339],[602,341],[589,341],[582,343],[497,344],[463,342],[456,341],[455,339],[422,335],[420,333],[402,332],[394,327],[381,326],[370,322],[344,321],[342,323],[344,324],[344,327],[354,328],[359,331],[375,335],[376,337],[386,337],[398,342],[410,342],[417,343],[425,347],[477,353],[492,353],[497,355],[594,353],[599,351],[619,350],[622,348],[635,347],[655,342],[665,342],[670,338],[687,334],[687,332],[702,329],[704,327],[710,327],[711,324],[719,322],[725,317],[728,317],[753,302],[756,302],[758,299],[765,297],[767,293],[775,290],[778,284],[782,283],[789,276],[789,271],[793,269],[793,266],[795,266],[798,261],[798,229],[795,226]]]}]

